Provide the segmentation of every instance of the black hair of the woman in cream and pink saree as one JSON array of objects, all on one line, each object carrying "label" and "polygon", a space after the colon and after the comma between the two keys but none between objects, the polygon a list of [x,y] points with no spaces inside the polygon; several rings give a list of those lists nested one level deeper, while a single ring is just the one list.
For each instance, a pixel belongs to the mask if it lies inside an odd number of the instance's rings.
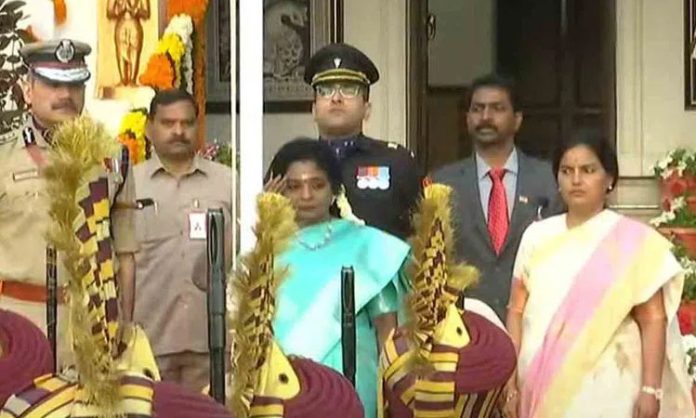
[{"label": "black hair of the woman in cream and pink saree", "polygon": [[611,188],[616,186],[619,180],[619,160],[616,156],[614,147],[611,146],[606,137],[602,135],[599,129],[581,128],[577,130],[570,138],[562,141],[556,148],[553,155],[553,174],[558,178],[558,171],[561,168],[561,160],[568,150],[577,146],[586,146],[589,148],[602,164],[602,168],[613,180]]}]

